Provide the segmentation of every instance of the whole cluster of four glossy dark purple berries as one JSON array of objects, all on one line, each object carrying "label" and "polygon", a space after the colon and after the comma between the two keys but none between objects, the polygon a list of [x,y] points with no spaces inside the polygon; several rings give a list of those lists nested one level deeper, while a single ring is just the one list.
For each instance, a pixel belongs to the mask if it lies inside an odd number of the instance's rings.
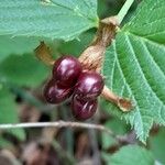
[{"label": "whole cluster of four glossy dark purple berries", "polygon": [[73,95],[72,110],[78,120],[86,120],[97,110],[97,97],[103,88],[102,77],[95,72],[84,72],[73,56],[58,58],[53,67],[53,78],[44,89],[50,103],[61,103]]}]

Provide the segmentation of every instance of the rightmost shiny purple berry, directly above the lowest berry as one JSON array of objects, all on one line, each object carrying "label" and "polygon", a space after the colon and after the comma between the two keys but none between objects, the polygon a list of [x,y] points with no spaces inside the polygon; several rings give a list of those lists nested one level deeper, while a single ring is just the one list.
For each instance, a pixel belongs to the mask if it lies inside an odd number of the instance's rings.
[{"label": "rightmost shiny purple berry, directly above the lowest berry", "polygon": [[103,85],[103,79],[99,74],[85,72],[80,74],[74,94],[81,99],[96,99],[101,94]]}]

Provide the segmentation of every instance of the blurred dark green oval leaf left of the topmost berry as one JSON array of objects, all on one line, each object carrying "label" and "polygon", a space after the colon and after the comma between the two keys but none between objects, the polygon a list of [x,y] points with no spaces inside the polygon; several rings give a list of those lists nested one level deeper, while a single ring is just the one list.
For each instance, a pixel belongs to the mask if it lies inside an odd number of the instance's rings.
[{"label": "blurred dark green oval leaf left of the topmost berry", "polygon": [[0,78],[9,82],[36,87],[48,77],[50,68],[33,55],[11,55],[0,65]]}]

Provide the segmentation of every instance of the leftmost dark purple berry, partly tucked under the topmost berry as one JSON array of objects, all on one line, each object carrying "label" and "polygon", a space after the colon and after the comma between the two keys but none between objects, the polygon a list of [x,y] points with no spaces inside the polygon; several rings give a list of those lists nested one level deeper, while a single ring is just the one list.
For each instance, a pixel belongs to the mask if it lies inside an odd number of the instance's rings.
[{"label": "leftmost dark purple berry, partly tucked under the topmost berry", "polygon": [[61,103],[70,97],[72,88],[64,88],[54,79],[50,80],[44,88],[44,97],[50,103]]}]

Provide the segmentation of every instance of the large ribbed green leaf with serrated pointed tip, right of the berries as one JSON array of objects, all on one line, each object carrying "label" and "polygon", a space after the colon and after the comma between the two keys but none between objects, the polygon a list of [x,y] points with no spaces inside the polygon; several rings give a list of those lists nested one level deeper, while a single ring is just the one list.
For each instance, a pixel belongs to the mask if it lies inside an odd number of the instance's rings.
[{"label": "large ribbed green leaf with serrated pointed tip, right of the berries", "polygon": [[153,122],[165,124],[164,10],[164,0],[144,0],[118,32],[103,66],[107,86],[135,105],[129,113],[114,107],[113,112],[130,122],[144,143]]}]

